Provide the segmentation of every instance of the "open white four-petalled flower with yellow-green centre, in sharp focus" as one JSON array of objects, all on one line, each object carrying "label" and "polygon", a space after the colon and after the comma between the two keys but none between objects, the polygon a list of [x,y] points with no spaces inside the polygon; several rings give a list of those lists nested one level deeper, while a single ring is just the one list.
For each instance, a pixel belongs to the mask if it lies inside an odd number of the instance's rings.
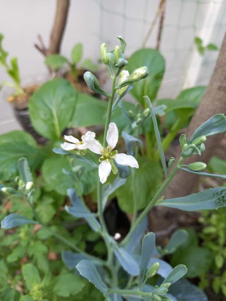
[{"label": "open white four-petalled flower with yellow-green centre, in sharp focus", "polygon": [[101,162],[99,165],[99,178],[102,184],[107,181],[107,178],[110,175],[111,160],[113,159],[120,165],[135,168],[139,167],[137,160],[133,156],[118,154],[118,151],[112,151],[118,142],[118,128],[114,122],[109,124],[106,140],[108,142],[108,147],[106,150],[95,138],[89,136],[86,140],[90,151],[95,154],[102,155],[99,159]]}]

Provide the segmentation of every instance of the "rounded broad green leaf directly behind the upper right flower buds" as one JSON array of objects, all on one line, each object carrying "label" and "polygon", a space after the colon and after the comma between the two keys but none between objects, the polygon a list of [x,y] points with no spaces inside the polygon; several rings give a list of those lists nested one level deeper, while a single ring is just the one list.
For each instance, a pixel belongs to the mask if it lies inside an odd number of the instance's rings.
[{"label": "rounded broad green leaf directly behind the upper right flower buds", "polygon": [[144,95],[152,101],[156,98],[165,71],[165,60],[155,49],[140,49],[131,55],[127,70],[131,74],[133,70],[141,66],[148,67],[149,75],[146,79],[134,82],[130,93],[138,102],[145,105]]}]

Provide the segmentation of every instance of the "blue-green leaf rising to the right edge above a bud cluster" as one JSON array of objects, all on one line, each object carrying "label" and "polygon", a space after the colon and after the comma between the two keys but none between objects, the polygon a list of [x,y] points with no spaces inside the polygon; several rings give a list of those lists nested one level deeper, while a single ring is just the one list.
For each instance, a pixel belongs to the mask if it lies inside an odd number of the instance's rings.
[{"label": "blue-green leaf rising to the right edge above a bud cluster", "polygon": [[226,117],[224,114],[216,114],[199,126],[187,143],[192,143],[193,140],[203,135],[208,137],[225,131]]}]

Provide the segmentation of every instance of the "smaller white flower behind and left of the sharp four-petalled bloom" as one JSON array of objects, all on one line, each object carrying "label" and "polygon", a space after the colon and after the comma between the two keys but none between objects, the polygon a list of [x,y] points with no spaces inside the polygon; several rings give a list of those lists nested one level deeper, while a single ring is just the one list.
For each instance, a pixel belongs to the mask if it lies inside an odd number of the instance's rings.
[{"label": "smaller white flower behind and left of the sharp four-petalled bloom", "polygon": [[88,148],[89,138],[94,139],[95,137],[96,134],[90,131],[88,131],[85,135],[82,135],[82,141],[79,141],[77,138],[74,138],[73,136],[64,135],[64,139],[71,143],[64,142],[61,144],[61,148],[63,148],[65,151],[72,151],[74,149],[86,150]]}]

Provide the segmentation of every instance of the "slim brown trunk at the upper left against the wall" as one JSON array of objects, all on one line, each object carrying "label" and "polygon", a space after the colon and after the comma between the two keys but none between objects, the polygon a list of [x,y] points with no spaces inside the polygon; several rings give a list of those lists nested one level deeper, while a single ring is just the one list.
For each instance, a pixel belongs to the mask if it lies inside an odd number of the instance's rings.
[{"label": "slim brown trunk at the upper left against the wall", "polygon": [[62,36],[67,22],[70,0],[57,0],[55,20],[49,42],[49,53],[59,53]]}]

